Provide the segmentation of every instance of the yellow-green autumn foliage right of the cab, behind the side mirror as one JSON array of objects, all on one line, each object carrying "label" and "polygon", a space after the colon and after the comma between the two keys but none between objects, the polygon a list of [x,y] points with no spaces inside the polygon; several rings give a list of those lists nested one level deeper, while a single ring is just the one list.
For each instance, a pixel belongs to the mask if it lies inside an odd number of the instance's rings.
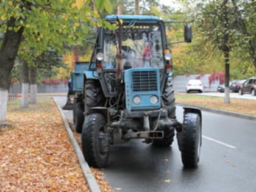
[{"label": "yellow-green autumn foliage right of the cab, behind the side mirror", "polygon": [[[176,20],[194,21],[193,41],[190,44],[173,44],[174,74],[199,74],[224,71],[224,55],[221,51],[225,34],[228,35],[230,48],[230,78],[246,79],[255,76],[254,58],[251,43],[256,49],[256,4],[252,1],[236,0],[242,17],[239,17],[235,6],[227,4],[228,13],[223,15],[224,1],[182,1],[185,5],[180,12],[170,16]],[[224,21],[228,17],[228,23]],[[241,24],[245,22],[245,26]],[[244,33],[244,27],[247,33]],[[176,27],[169,32],[169,41],[176,40],[179,29]]]}]

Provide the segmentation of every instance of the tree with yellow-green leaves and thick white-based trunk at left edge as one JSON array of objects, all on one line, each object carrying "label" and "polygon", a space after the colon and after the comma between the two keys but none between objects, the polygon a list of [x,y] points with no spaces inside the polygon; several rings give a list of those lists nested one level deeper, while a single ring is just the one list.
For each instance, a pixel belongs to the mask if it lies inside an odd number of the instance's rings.
[{"label": "tree with yellow-green leaves and thick white-based trunk at left edge", "polygon": [[[79,2],[79,3],[76,3]],[[27,53],[34,50],[34,57],[21,53],[28,64],[49,47],[62,51],[68,44],[82,44],[90,26],[109,23],[99,20],[99,14],[90,9],[91,1],[82,0],[14,0],[0,2],[0,121],[5,121],[10,71],[18,49]],[[99,11],[112,11],[109,1],[95,1]],[[21,40],[23,41],[21,43]]]}]

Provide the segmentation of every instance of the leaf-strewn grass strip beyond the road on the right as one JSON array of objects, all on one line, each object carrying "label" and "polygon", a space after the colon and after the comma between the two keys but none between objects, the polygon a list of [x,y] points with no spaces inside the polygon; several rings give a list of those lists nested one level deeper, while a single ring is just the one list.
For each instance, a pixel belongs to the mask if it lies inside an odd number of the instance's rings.
[{"label": "leaf-strewn grass strip beyond the road on the right", "polygon": [[255,100],[230,98],[230,103],[224,104],[224,98],[214,96],[176,93],[175,97],[177,103],[198,105],[227,112],[256,116]]}]

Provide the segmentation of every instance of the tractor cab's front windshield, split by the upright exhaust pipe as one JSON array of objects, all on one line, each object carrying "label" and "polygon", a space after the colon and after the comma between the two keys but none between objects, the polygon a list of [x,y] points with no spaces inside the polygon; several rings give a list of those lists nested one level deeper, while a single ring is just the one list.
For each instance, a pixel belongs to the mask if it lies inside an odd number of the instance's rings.
[{"label": "tractor cab's front windshield, split by the upright exhaust pipe", "polygon": [[[116,68],[118,29],[105,30],[103,68]],[[163,49],[160,27],[155,25],[123,26],[122,68],[163,69]]]}]

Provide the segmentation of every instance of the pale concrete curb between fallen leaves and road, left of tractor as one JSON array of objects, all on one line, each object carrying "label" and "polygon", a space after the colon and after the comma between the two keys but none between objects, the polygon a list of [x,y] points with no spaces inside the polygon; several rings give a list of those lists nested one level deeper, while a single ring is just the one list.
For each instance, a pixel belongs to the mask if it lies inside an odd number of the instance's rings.
[{"label": "pale concrete curb between fallen leaves and road, left of tractor", "polygon": [[57,104],[57,101],[55,101],[55,98],[54,98],[54,102],[57,105],[57,107],[59,108],[59,112],[60,112],[60,115],[62,116],[63,123],[65,124],[66,131],[68,132],[69,141],[71,141],[74,151],[76,152],[78,162],[82,168],[82,171],[84,172],[84,176],[85,176],[85,179],[87,180],[87,184],[88,184],[88,187],[90,188],[90,191],[91,192],[101,192],[99,185],[96,182],[96,179],[93,176],[93,173],[92,173],[90,167],[88,166],[87,162],[85,162],[84,155],[83,155],[76,139],[74,138],[73,132],[71,131],[71,128],[69,127],[68,121],[66,120],[66,117],[65,117],[62,109]]}]

